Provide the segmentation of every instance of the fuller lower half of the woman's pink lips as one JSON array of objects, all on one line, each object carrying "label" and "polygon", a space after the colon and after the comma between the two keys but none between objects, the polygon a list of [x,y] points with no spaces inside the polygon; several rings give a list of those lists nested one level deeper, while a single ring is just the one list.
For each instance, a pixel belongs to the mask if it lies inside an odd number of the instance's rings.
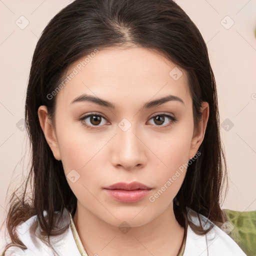
[{"label": "fuller lower half of the woman's pink lips", "polygon": [[136,190],[123,190],[123,189],[106,189],[105,192],[119,202],[137,202],[148,195],[151,189],[136,189]]}]

